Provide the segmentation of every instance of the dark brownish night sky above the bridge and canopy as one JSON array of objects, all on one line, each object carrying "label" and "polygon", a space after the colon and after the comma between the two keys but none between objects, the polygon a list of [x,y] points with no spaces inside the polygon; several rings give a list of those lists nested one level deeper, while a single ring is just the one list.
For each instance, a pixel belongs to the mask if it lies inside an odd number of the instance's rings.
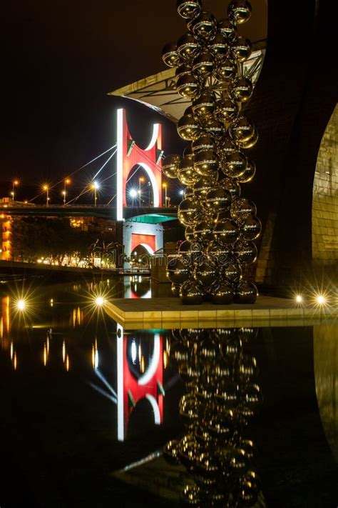
[{"label": "dark brownish night sky above the bridge and canopy", "polygon": [[[225,17],[227,2],[204,5]],[[265,37],[265,0],[252,0],[252,7],[252,19],[243,29],[255,41]],[[163,45],[185,32],[175,0],[21,0],[6,2],[1,15],[3,195],[19,178],[18,199],[30,199],[34,189],[26,186],[38,190],[44,181],[67,176],[115,144],[115,111],[121,104],[130,111],[137,141],[146,142],[151,125],[145,125],[159,117],[106,94],[165,69]],[[160,121],[170,133],[165,151],[180,149],[175,126],[162,117]],[[85,185],[99,167],[89,166],[74,185]],[[111,182],[107,196],[113,195]]]}]

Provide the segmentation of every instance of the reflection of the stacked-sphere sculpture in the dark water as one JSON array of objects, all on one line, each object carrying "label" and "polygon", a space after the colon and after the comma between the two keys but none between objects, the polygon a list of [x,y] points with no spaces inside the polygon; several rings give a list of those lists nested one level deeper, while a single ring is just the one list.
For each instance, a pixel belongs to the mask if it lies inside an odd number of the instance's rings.
[{"label": "reflection of the stacked-sphere sculpture in the dark water", "polygon": [[262,394],[256,360],[243,348],[255,334],[255,329],[173,331],[170,359],[187,388],[179,406],[185,435],[168,442],[163,453],[190,474],[183,504],[264,506],[248,431]]}]

